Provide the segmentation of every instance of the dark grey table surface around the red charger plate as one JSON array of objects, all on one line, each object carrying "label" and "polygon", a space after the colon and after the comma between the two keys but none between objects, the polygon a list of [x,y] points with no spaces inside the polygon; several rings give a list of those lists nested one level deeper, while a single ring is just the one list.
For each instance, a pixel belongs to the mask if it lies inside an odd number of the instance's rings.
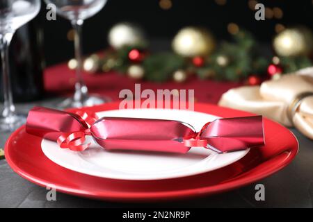
[{"label": "dark grey table surface around the red charger plate", "polygon": [[[56,101],[39,105],[54,106]],[[38,105],[38,103],[36,103]],[[34,104],[18,105],[27,112]],[[223,194],[166,203],[115,203],[91,200],[57,193],[56,200],[48,201],[47,189],[18,176],[0,160],[0,207],[312,207],[313,206],[313,141],[291,129],[298,138],[300,150],[295,160],[278,173],[241,189]],[[3,148],[9,134],[2,134]],[[265,187],[265,200],[255,200],[255,185]]]}]

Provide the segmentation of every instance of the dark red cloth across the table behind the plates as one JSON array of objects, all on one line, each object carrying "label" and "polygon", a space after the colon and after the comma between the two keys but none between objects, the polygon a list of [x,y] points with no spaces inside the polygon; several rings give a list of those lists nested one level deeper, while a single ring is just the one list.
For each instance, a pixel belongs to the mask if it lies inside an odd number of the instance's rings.
[{"label": "dark red cloth across the table behind the plates", "polygon": [[[214,80],[199,80],[195,77],[186,83],[150,83],[143,80],[133,80],[127,76],[110,72],[107,74],[83,74],[90,93],[109,96],[117,101],[122,89],[131,89],[134,93],[135,83],[141,83],[141,91],[144,89],[195,89],[195,101],[204,103],[218,103],[220,96],[232,87],[238,87],[241,83],[218,82]],[[67,64],[49,67],[45,71],[45,89],[49,94],[71,95],[74,92],[75,74],[67,68]]]}]

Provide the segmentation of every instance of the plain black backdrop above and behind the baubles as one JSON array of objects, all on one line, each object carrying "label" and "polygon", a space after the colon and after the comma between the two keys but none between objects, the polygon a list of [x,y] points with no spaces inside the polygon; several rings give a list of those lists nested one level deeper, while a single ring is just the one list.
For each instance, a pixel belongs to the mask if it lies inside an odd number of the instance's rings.
[{"label": "plain black backdrop above and behind the baubles", "polygon": [[[251,1],[251,0],[250,0]],[[164,10],[160,0],[108,0],[106,6],[94,17],[87,19],[83,27],[83,51],[92,53],[104,49],[107,45],[106,35],[109,28],[117,22],[135,22],[142,26],[150,40],[170,40],[179,28],[184,26],[204,26],[209,28],[218,40],[229,40],[227,24],[231,22],[255,34],[260,42],[268,43],[275,35],[275,26],[294,26],[303,24],[312,29],[312,0],[258,1],[265,7],[278,7],[283,12],[281,19],[272,18],[265,21],[255,20],[255,11],[249,8],[248,0],[171,0],[172,7]],[[47,65],[53,65],[72,58],[73,42],[68,39],[70,22],[61,17],[56,21],[47,21],[45,3],[38,19],[45,31],[45,59]]]}]

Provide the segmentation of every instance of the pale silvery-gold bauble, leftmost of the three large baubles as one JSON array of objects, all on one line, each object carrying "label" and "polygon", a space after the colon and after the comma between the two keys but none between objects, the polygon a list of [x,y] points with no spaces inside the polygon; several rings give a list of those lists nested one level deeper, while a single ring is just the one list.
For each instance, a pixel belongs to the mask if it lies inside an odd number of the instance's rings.
[{"label": "pale silvery-gold bauble, leftmost of the three large baubles", "polygon": [[129,22],[115,24],[109,31],[108,41],[115,49],[120,49],[122,46],[136,46],[147,43],[143,30]]}]

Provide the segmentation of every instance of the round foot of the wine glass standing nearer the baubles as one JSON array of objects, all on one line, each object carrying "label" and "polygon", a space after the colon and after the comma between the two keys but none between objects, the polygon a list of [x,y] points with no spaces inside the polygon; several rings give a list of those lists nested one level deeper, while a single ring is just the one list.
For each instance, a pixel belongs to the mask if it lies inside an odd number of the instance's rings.
[{"label": "round foot of the wine glass standing nearer the baubles", "polygon": [[82,101],[74,100],[74,98],[67,98],[63,102],[61,102],[58,107],[61,109],[67,108],[81,108],[83,106],[93,106],[93,105],[100,105],[103,103],[109,103],[111,99],[106,96],[96,96],[91,95],[83,99]]}]

